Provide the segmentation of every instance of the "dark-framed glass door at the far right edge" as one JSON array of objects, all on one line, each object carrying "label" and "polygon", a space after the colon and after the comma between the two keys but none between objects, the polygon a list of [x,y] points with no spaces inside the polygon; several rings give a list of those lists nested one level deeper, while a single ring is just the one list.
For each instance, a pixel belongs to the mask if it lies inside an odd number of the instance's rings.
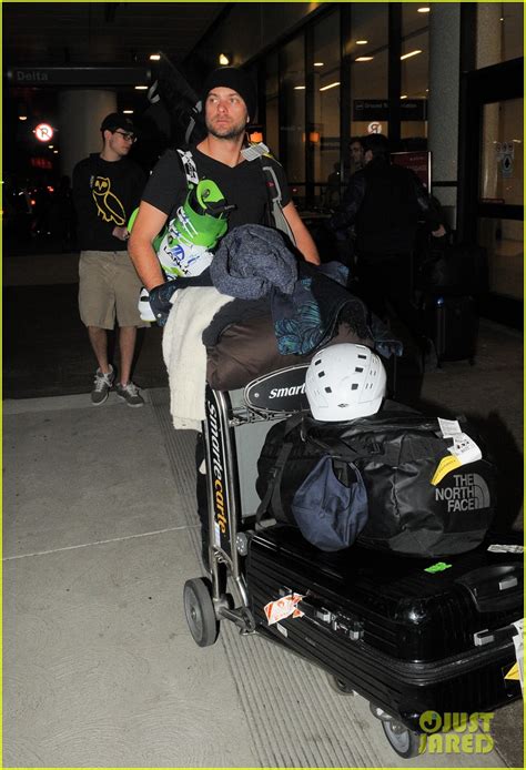
[{"label": "dark-framed glass door at the far right edge", "polygon": [[524,308],[523,59],[464,77],[458,173],[459,241],[484,246],[482,315],[517,328]]}]

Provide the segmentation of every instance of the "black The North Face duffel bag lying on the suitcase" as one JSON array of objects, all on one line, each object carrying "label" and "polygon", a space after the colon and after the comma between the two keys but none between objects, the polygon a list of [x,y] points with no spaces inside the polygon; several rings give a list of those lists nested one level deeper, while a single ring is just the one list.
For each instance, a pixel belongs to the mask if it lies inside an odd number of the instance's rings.
[{"label": "black The North Face duffel bag lying on the suitcase", "polygon": [[[432,484],[441,460],[452,458],[448,447],[453,442],[442,436],[436,418],[396,407],[387,402],[375,415],[344,423],[303,417],[300,424],[293,418],[274,425],[257,462],[259,517],[266,511],[277,521],[300,526],[306,539],[323,550],[345,548],[355,538],[370,548],[421,557],[476,548],[494,517],[496,487],[495,466],[485,458],[479,437],[461,423],[463,433],[482,449],[483,459],[449,470]],[[295,517],[296,494],[305,489],[310,475],[327,456],[341,484],[357,485],[357,494],[351,496],[351,505],[356,503],[357,509],[343,511],[336,501],[324,516],[313,501],[312,516],[320,519],[313,538],[312,531],[304,530],[305,510],[301,519]],[[342,473],[345,465],[347,475]],[[335,488],[333,476],[328,477]],[[366,492],[365,513],[361,483]],[[324,499],[322,493],[311,497]],[[331,529],[327,537],[320,536],[324,524]]]}]

